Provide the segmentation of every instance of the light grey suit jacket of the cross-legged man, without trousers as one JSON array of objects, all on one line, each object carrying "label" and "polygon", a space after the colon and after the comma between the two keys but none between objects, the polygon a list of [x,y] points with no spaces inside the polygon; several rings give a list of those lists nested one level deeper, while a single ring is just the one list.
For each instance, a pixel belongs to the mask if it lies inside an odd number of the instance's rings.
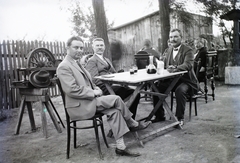
[{"label": "light grey suit jacket of the cross-legged man, without trousers", "polygon": [[65,92],[65,107],[72,120],[88,119],[96,113],[97,101],[86,75],[91,80],[91,75],[85,74],[68,55],[57,68],[57,76]]}]

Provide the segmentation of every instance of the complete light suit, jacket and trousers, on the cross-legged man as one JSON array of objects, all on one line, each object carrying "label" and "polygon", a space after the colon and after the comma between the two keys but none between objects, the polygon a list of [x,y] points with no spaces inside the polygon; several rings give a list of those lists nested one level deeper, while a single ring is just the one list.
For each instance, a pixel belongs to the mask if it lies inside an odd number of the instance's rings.
[{"label": "complete light suit, jacket and trousers, on the cross-legged man", "polygon": [[92,83],[91,75],[87,70],[85,73],[68,55],[57,68],[57,75],[65,92],[67,112],[72,120],[89,119],[96,110],[102,112],[107,115],[107,121],[117,140],[129,131],[125,119],[129,119],[132,113],[119,96],[95,97],[93,90],[100,88]]}]

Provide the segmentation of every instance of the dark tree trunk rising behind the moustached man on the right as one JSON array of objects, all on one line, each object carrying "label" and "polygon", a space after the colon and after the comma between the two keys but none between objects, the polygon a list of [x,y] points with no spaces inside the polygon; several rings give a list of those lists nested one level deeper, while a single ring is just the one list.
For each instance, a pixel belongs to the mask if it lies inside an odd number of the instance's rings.
[{"label": "dark tree trunk rising behind the moustached man on the right", "polygon": [[161,31],[161,47],[160,52],[163,53],[168,48],[168,38],[170,32],[170,6],[169,0],[158,0],[160,15],[160,31]]}]

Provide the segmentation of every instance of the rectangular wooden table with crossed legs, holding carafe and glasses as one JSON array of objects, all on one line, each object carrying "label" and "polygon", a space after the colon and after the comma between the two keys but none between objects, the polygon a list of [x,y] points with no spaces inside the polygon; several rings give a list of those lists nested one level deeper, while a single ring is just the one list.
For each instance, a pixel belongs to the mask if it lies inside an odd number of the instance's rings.
[{"label": "rectangular wooden table with crossed legs, holding carafe and glasses", "polygon": [[[113,89],[111,88],[112,84],[136,86],[132,96],[126,102],[127,107],[129,107],[132,104],[132,102],[136,98],[137,94],[139,94],[139,93],[146,93],[146,94],[150,94],[150,95],[159,97],[159,101],[158,101],[157,105],[154,107],[154,109],[151,111],[151,113],[146,118],[143,118],[142,120],[146,120],[146,121],[151,120],[151,118],[153,117],[153,115],[155,114],[157,109],[160,107],[161,104],[163,104],[165,110],[167,111],[167,113],[169,114],[169,116],[171,117],[173,122],[167,126],[164,126],[160,129],[158,129],[157,131],[154,131],[152,133],[148,133],[146,135],[141,136],[141,138],[140,138],[140,140],[141,140],[152,134],[160,132],[162,130],[179,125],[179,121],[177,120],[177,118],[171,111],[170,107],[166,103],[166,98],[168,97],[169,93],[171,92],[171,90],[173,89],[175,84],[178,82],[178,80],[184,73],[187,73],[187,71],[169,73],[167,70],[164,70],[163,74],[161,74],[161,75],[148,74],[146,69],[141,69],[141,70],[138,70],[138,72],[134,73],[134,74],[130,74],[130,72],[122,72],[122,73],[116,73],[116,74],[97,76],[95,78],[100,79],[102,82],[104,82],[104,84],[106,85],[110,94],[115,94]],[[166,89],[166,91],[164,93],[160,93],[158,91],[156,85],[154,84],[154,82],[161,81],[164,79],[169,79],[169,78],[173,79],[172,82],[170,83],[169,87]],[[142,91],[142,88],[146,84],[150,84],[150,86],[152,87],[152,90]],[[179,127],[181,128],[180,125],[179,125]]]}]

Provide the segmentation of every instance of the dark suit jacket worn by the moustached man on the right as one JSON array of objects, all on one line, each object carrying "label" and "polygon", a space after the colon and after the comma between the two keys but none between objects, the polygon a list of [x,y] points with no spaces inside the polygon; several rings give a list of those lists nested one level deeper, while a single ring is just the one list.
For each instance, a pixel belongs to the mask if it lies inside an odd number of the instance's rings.
[{"label": "dark suit jacket worn by the moustached man on the right", "polygon": [[194,62],[194,54],[190,47],[182,44],[178,54],[175,57],[175,61],[173,61],[173,47],[169,47],[166,51],[166,56],[164,58],[164,66],[167,68],[169,65],[175,65],[177,71],[188,71],[187,74],[184,74],[180,81],[188,84],[194,90],[199,89],[199,82],[193,70],[193,62]]}]

